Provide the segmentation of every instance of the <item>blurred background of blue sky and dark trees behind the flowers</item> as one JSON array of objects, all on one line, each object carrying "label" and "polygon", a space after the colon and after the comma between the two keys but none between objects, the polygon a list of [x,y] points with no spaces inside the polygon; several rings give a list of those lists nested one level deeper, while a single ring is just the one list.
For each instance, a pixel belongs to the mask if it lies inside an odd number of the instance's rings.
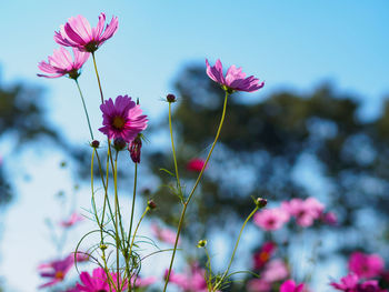
[{"label": "blurred background of blue sky and dark trees behind the flowers", "polygon": [[[37,265],[71,251],[93,225],[84,222],[67,241],[52,238],[61,218],[74,208],[81,213],[89,209],[89,133],[73,82],[37,77],[37,63],[58,48],[53,31],[77,14],[92,26],[100,12],[119,18],[117,34],[97,53],[98,67],[106,98],[139,98],[150,117],[140,185],[158,202],[154,217],[166,224],[178,214],[176,199],[159,188],[169,183],[159,168],[172,168],[166,94],[179,100],[174,123],[184,172],[189,159],[206,155],[220,112],[222,92],[208,80],[205,58],[241,66],[265,80],[258,93],[231,99],[222,142],[186,228],[187,244],[194,244],[199,234],[209,240],[216,266],[226,264],[251,208],[250,195],[265,197],[270,204],[313,195],[338,214],[341,225],[336,230],[312,228],[300,234],[291,228],[276,234],[291,246],[303,243],[306,253],[291,248],[290,254],[299,254],[293,261],[300,279],[315,270],[313,291],[327,291],[330,276],[345,273],[352,250],[389,254],[387,1],[16,0],[3,1],[1,12],[4,291],[36,291],[41,283]],[[98,129],[100,98],[91,60],[80,84]],[[123,204],[130,203],[131,175],[131,163],[124,161]],[[190,185],[193,175],[183,177]],[[250,251],[263,239],[258,228],[248,228],[236,269],[250,268]],[[317,244],[317,261],[305,264]],[[146,263],[146,274],[161,276],[168,259]]]}]

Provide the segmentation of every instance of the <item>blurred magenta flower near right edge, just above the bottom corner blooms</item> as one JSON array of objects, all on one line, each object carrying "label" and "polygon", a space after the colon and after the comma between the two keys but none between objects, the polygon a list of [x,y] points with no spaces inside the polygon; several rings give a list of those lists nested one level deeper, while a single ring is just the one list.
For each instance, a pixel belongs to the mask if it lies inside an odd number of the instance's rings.
[{"label": "blurred magenta flower near right edge, just above the bottom corner blooms", "polygon": [[353,252],[349,259],[349,270],[360,278],[375,278],[383,272],[383,260],[377,254]]}]

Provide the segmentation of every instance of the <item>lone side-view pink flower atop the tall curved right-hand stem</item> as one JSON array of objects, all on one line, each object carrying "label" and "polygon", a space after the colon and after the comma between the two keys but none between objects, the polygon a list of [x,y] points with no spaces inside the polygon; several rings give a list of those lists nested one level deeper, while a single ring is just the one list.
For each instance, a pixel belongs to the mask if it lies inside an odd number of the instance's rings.
[{"label": "lone side-view pink flower atop the tall curved right-hand stem", "polygon": [[265,82],[259,83],[259,79],[250,75],[246,78],[246,73],[242,72],[241,68],[231,66],[227,70],[226,77],[223,75],[223,68],[218,59],[216,64],[210,67],[208,60],[206,59],[207,64],[207,74],[215,82],[218,82],[225,90],[229,92],[233,91],[247,91],[253,92],[261,89],[265,85]]}]

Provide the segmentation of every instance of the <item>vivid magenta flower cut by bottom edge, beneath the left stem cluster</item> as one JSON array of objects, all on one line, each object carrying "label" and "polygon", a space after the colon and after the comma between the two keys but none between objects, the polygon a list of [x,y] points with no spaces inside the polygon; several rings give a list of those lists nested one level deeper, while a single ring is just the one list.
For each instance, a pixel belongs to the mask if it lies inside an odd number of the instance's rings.
[{"label": "vivid magenta flower cut by bottom edge, beneath the left stem cluster", "polygon": [[[118,274],[111,273],[112,280],[114,285],[118,283]],[[120,278],[120,275],[119,275]],[[110,290],[110,284],[108,282],[108,278],[106,274],[104,269],[97,268],[93,270],[92,275],[90,275],[88,272],[82,272],[80,274],[81,284],[77,283],[77,289],[79,292],[102,292],[102,291],[117,291],[116,288],[112,286],[112,290]],[[119,284],[122,285],[122,289],[120,291],[126,291],[127,283],[122,283],[122,280],[119,279]],[[111,284],[112,285],[112,284]]]}]

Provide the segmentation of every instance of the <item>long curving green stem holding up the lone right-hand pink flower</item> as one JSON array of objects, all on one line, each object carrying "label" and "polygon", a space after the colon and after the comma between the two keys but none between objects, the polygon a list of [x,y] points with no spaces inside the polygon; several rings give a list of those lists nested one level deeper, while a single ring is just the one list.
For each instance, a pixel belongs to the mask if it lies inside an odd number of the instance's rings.
[{"label": "long curving green stem holding up the lone right-hand pink flower", "polygon": [[199,177],[197,178],[196,180],[196,183],[191,190],[191,192],[189,193],[189,197],[188,197],[188,200],[183,203],[183,208],[182,208],[182,212],[181,212],[181,217],[180,217],[180,221],[178,223],[178,229],[177,229],[177,235],[176,235],[176,242],[174,242],[174,248],[173,248],[173,253],[171,255],[171,261],[170,261],[170,266],[169,266],[169,271],[168,271],[168,275],[166,278],[166,281],[164,281],[164,288],[163,288],[163,292],[166,292],[167,288],[168,288],[168,283],[169,283],[169,278],[170,278],[170,273],[171,273],[171,269],[173,266],[173,261],[174,261],[174,256],[176,256],[176,251],[177,251],[177,245],[178,245],[178,240],[180,238],[180,233],[181,233],[181,229],[182,229],[182,224],[183,224],[183,218],[184,218],[184,214],[187,212],[187,208],[188,208],[188,204],[190,202],[190,200],[192,199],[193,197],[193,193],[201,180],[201,177],[202,177],[202,173],[205,171],[205,169],[207,168],[207,164],[208,164],[208,161],[213,152],[213,149],[215,149],[215,145],[216,143],[218,142],[218,139],[219,139],[219,135],[220,135],[220,131],[221,131],[221,128],[223,125],[223,122],[225,122],[225,117],[226,117],[226,110],[227,110],[227,100],[228,100],[228,92],[226,91],[226,97],[225,97],[225,103],[223,103],[223,111],[222,111],[222,114],[221,114],[221,119],[220,119],[220,123],[219,123],[219,128],[218,128],[218,131],[216,133],[216,137],[215,137],[215,141],[212,143],[212,147],[208,153],[208,157],[206,159],[206,162],[199,173]]}]

